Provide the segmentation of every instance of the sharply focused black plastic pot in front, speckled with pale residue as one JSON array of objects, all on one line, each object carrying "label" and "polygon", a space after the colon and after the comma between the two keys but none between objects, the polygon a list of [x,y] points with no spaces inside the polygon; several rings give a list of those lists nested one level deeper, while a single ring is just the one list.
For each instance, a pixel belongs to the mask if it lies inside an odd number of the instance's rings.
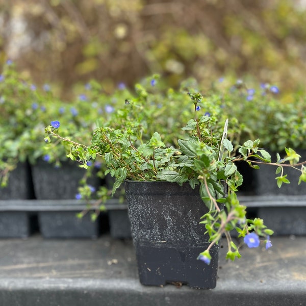
[{"label": "sharply focused black plastic pot in front, speckled with pale residue", "polygon": [[199,224],[208,212],[198,187],[168,182],[125,182],[125,193],[136,248],[140,283],[162,286],[216,286],[219,246],[210,251],[210,265],[197,260],[209,246],[206,228]]}]

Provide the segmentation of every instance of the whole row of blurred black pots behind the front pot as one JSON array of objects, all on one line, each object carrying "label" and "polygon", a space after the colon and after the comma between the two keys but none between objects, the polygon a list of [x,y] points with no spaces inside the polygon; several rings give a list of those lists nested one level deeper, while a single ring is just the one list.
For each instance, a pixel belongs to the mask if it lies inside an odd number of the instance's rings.
[{"label": "whole row of blurred black pots behind the front pot", "polygon": [[[299,152],[300,153],[300,152]],[[303,155],[302,152],[301,155]],[[306,154],[303,155],[306,158]],[[239,165],[239,170],[244,174],[245,184],[240,190],[240,195],[248,195],[245,197],[249,205],[252,206],[252,202],[257,201],[257,208],[250,208],[251,214],[264,218],[268,227],[273,228],[275,234],[286,235],[288,233],[294,235],[303,235],[306,233],[305,225],[305,212],[303,205],[303,195],[306,194],[306,189],[303,184],[298,185],[298,172],[292,169],[285,169],[289,171],[289,178],[292,182],[290,185],[284,184],[279,189],[275,182],[274,171],[271,171],[271,166],[261,165],[260,170],[251,169],[246,163]],[[32,173],[31,173],[32,171]],[[84,209],[78,208],[73,205],[70,207],[70,211],[67,209],[61,213],[65,208],[58,206],[59,199],[74,198],[77,193],[79,181],[82,179],[85,170],[77,167],[75,163],[63,163],[62,167],[55,168],[44,161],[40,161],[37,165],[30,166],[28,164],[19,164],[10,176],[9,187],[3,188],[0,191],[0,201],[7,199],[33,199],[36,200],[54,200],[52,204],[52,211],[48,212],[46,209],[40,206],[40,211],[37,214],[40,232],[44,237],[90,237],[94,238],[99,235],[99,220],[91,222],[89,215],[86,215],[82,219],[77,219],[75,215]],[[250,174],[257,174],[250,175]],[[269,179],[268,179],[269,177]],[[292,180],[293,178],[293,180]],[[254,189],[254,181],[263,183],[258,184],[258,188]],[[90,182],[94,187],[98,187],[101,181],[94,177]],[[110,184],[110,183],[108,183]],[[250,188],[251,186],[251,188]],[[263,188],[265,187],[265,189]],[[259,190],[262,190],[261,196],[258,196]],[[286,197],[282,196],[283,191],[286,191]],[[293,197],[297,197],[297,200],[292,202]],[[288,196],[290,198],[288,198]],[[258,201],[258,197],[261,200]],[[269,200],[266,200],[266,199]],[[283,205],[279,208],[277,214],[275,214],[275,201],[285,199],[287,205]],[[272,207],[271,207],[271,203]],[[284,201],[283,201],[284,203]],[[292,204],[293,203],[293,204]],[[35,216],[29,214],[27,209],[20,209],[20,211],[10,211],[10,201],[5,202],[5,208],[3,207],[0,215],[0,229],[2,229],[0,237],[27,237],[32,232],[31,220],[35,219]],[[39,204],[37,205],[39,207]],[[58,211],[55,211],[55,208]],[[290,213],[288,213],[290,210]],[[17,221],[9,222],[8,213],[12,214],[12,218],[22,221],[18,227]],[[19,217],[17,217],[17,213]],[[49,217],[48,217],[49,216]],[[8,223],[11,225],[8,226]],[[105,222],[105,221],[104,221]],[[131,238],[131,223],[127,214],[127,206],[121,204],[115,204],[114,202],[108,209],[108,220],[110,228],[110,234],[113,238]],[[97,223],[97,224],[95,224]],[[48,224],[48,226],[46,226]],[[280,224],[277,226],[277,224]],[[73,226],[72,226],[73,225]],[[295,226],[293,226],[295,225]],[[69,230],[69,227],[72,230]],[[18,230],[19,228],[19,230]],[[50,228],[50,231],[45,231],[44,228]],[[79,229],[78,229],[79,228]],[[89,234],[85,231],[85,228],[91,228]],[[7,229],[7,230],[5,230]],[[20,234],[18,235],[18,231]]]}]

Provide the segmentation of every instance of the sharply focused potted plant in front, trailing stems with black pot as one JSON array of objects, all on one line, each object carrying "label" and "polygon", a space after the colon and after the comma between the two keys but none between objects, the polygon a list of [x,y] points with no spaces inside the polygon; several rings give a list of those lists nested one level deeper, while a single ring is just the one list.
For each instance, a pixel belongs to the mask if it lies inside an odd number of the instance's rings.
[{"label": "sharply focused potted plant in front, trailing stems with black pot", "polygon": [[[115,177],[113,194],[125,182],[144,285],[182,282],[194,288],[214,288],[222,235],[228,242],[226,258],[240,258],[230,235],[233,230],[249,247],[259,246],[260,240],[267,248],[271,246],[273,232],[262,219],[246,218],[246,207],[237,199],[243,177],[236,162],[251,167],[271,164],[281,171],[299,165],[300,181],[306,181],[305,162],[298,163],[299,156],[291,149],[283,159],[271,163],[270,155],[259,148],[260,141],[248,140],[239,146],[240,156],[233,155],[234,147],[226,137],[227,120],[220,132],[216,117],[200,115],[202,96],[188,95],[195,117],[183,127],[189,136],[177,140],[177,147],[166,146],[158,132],[144,140],[143,126],[135,120],[121,129],[98,127],[90,145],[62,137],[54,124],[46,127],[45,140],[61,139],[69,144],[69,158],[83,166],[97,156],[103,158],[105,173]],[[126,107],[133,107],[133,101]],[[282,183],[284,177],[277,180]]]}]

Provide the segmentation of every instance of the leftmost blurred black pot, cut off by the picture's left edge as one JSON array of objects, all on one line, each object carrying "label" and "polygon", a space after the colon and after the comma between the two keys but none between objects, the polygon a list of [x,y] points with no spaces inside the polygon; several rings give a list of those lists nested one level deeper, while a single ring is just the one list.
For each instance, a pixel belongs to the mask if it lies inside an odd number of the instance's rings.
[{"label": "leftmost blurred black pot, cut off by the picture's left edge", "polygon": [[26,200],[33,196],[30,166],[27,162],[18,163],[10,173],[7,187],[0,189],[0,238],[26,238],[32,234],[32,213],[12,210],[10,200]]}]

